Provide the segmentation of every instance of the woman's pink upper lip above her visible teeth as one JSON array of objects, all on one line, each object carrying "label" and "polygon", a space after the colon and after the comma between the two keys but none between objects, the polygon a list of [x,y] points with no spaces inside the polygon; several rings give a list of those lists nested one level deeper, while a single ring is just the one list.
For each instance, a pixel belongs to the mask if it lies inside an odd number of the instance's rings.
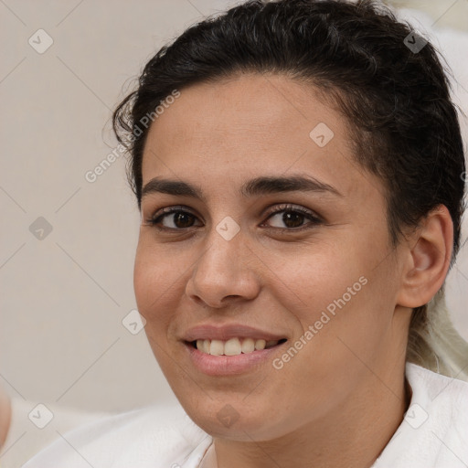
[{"label": "woman's pink upper lip above her visible teeth", "polygon": [[264,339],[266,341],[286,339],[284,335],[278,335],[271,332],[261,330],[260,328],[253,328],[242,324],[227,324],[227,325],[214,325],[214,324],[200,324],[189,328],[186,331],[183,339],[186,341],[196,340],[221,340],[227,341],[230,338],[254,338]]}]

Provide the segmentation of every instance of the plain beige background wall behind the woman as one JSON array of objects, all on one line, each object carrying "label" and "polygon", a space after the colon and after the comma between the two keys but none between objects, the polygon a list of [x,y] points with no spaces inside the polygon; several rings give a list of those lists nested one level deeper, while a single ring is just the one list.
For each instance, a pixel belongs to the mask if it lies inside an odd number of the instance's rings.
[{"label": "plain beige background wall behind the woman", "polygon": [[[144,331],[132,335],[122,325],[135,308],[139,223],[124,161],[94,183],[84,175],[116,146],[112,108],[156,49],[235,3],[0,2],[0,386],[25,413],[19,420],[16,412],[5,465],[37,444],[39,430],[26,415],[38,402],[79,421],[87,412],[176,401]],[[466,112],[468,1],[413,5],[427,11],[418,16],[422,30],[435,27]],[[43,54],[28,44],[39,28],[54,41]],[[465,138],[467,129],[463,118]],[[42,240],[29,230],[38,217],[52,226]],[[466,228],[465,222],[463,240]],[[448,293],[453,321],[468,339],[467,289],[465,246]]]}]

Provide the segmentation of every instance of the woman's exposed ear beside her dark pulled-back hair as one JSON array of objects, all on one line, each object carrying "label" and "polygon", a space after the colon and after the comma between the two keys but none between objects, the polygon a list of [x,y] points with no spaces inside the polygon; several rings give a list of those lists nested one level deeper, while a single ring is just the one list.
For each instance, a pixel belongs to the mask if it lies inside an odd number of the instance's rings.
[{"label": "woman's exposed ear beside her dark pulled-back hair", "polygon": [[452,217],[447,207],[439,205],[406,244],[399,305],[419,307],[431,301],[449,271],[452,247]]}]

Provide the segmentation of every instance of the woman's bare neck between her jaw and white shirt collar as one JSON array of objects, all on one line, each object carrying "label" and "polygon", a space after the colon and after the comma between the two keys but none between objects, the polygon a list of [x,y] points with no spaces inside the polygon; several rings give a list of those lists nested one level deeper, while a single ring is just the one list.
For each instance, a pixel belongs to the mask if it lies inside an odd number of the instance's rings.
[{"label": "woman's bare neck between her jaw and white shirt collar", "polygon": [[[272,441],[214,439],[204,468],[368,468],[391,439],[410,403],[404,363],[387,376],[369,371],[361,391],[320,420]],[[362,390],[367,388],[366,391]]]}]

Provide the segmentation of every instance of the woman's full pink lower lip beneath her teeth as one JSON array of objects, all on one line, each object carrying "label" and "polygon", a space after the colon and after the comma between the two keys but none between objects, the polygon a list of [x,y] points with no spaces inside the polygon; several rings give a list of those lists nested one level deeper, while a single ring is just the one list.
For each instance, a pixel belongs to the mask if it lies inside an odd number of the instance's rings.
[{"label": "woman's full pink lower lip beneath her teeth", "polygon": [[200,372],[208,376],[231,376],[258,370],[259,367],[267,363],[271,363],[273,356],[278,354],[279,349],[285,345],[287,341],[281,345],[252,351],[251,353],[240,354],[237,356],[211,356],[207,353],[202,353],[196,347],[184,343],[188,351],[188,355],[195,367]]}]

